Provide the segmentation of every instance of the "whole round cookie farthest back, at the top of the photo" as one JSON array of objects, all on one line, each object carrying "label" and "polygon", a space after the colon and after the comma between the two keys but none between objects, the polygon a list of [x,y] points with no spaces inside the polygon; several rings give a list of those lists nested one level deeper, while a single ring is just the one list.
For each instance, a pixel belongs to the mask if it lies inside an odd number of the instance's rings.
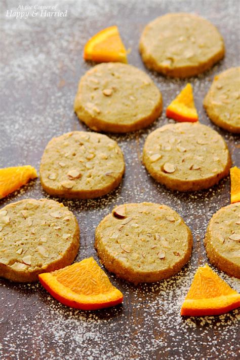
[{"label": "whole round cookie farthest back, at the top of the photo", "polygon": [[148,68],[185,78],[203,73],[222,59],[224,43],[217,28],[208,20],[176,13],[147,24],[139,50]]}]

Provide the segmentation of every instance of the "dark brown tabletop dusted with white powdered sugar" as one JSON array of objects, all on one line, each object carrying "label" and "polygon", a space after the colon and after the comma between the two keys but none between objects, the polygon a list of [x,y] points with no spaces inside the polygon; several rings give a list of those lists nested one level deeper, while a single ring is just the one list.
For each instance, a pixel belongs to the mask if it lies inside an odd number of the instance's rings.
[{"label": "dark brown tabletop dusted with white powdered sugar", "polygon": [[[146,3],[146,4],[144,4]],[[70,130],[88,130],[73,113],[79,78],[91,67],[82,60],[83,47],[98,30],[116,24],[129,63],[144,69],[138,41],[144,25],[168,12],[193,12],[212,21],[223,35],[226,56],[213,69],[190,79],[199,120],[217,130],[227,141],[233,163],[240,166],[239,138],[213,125],[202,102],[215,74],[239,64],[239,3],[235,1],[68,1],[34,2],[57,5],[67,16],[41,17],[41,10],[27,19],[6,17],[16,2],[2,1],[0,167],[31,164],[37,169],[47,142]],[[26,5],[27,5],[26,4]],[[25,6],[25,4],[23,4]],[[212,189],[181,194],[166,190],[147,174],[141,152],[147,134],[169,122],[166,106],[186,84],[146,70],[163,94],[164,112],[149,128],[128,135],[109,136],[118,141],[126,160],[121,186],[97,200],[63,203],[74,212],[81,228],[77,260],[97,255],[94,229],[115,204],[152,201],[178,211],[194,236],[191,261],[176,276],[155,284],[134,286],[111,276],[124,293],[124,303],[112,309],[82,312],[52,299],[39,284],[14,284],[1,280],[2,358],[221,358],[237,357],[238,311],[229,314],[181,318],[182,301],[199,265],[207,262],[203,238],[212,214],[229,204],[229,177]],[[1,207],[24,198],[47,197],[39,179],[0,202]],[[235,289],[239,281],[220,276]],[[109,275],[109,274],[108,274]]]}]

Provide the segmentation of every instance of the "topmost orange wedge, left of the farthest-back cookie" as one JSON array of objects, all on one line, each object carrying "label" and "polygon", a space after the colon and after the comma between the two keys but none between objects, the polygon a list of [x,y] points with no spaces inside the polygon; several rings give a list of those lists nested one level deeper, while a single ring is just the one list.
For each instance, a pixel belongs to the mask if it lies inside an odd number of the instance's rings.
[{"label": "topmost orange wedge, left of the farthest-back cookie", "polygon": [[94,35],[85,45],[84,59],[96,62],[127,63],[127,51],[117,26],[107,27]]}]

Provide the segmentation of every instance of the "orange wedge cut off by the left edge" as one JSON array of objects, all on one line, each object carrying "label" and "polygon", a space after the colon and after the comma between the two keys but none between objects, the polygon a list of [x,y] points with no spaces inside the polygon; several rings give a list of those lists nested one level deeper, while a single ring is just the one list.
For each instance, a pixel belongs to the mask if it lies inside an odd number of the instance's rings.
[{"label": "orange wedge cut off by the left edge", "polygon": [[36,170],[30,165],[0,169],[0,199],[26,185],[35,177],[37,177]]}]

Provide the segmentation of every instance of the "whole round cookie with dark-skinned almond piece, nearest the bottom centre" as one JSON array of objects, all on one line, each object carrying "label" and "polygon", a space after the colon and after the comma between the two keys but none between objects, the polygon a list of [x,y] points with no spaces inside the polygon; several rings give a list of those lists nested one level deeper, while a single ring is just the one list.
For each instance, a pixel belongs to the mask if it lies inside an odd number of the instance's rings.
[{"label": "whole round cookie with dark-skinned almond piece, nearest the bottom centre", "polygon": [[137,284],[180,271],[191,256],[192,235],[166,205],[124,204],[100,222],[95,247],[107,270]]}]

